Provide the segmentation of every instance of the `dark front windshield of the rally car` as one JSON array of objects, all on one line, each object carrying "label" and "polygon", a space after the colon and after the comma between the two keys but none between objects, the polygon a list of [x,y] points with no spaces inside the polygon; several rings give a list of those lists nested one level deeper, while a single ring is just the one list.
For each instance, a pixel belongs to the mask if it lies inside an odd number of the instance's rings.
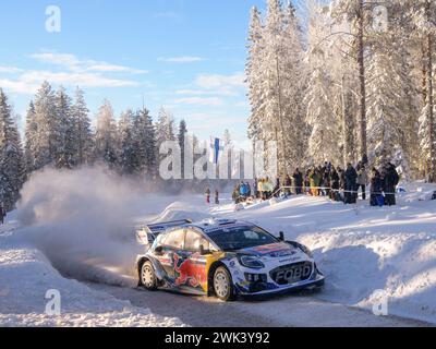
[{"label": "dark front windshield of the rally car", "polygon": [[208,236],[222,251],[238,251],[278,242],[271,234],[255,226],[217,229],[208,232]]}]

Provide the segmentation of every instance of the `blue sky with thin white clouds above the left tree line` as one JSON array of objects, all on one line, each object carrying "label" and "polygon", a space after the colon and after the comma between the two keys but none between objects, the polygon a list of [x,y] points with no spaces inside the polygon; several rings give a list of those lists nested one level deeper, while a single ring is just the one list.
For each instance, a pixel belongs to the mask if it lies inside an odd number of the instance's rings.
[{"label": "blue sky with thin white clouds above the left tree line", "polygon": [[[46,31],[46,9],[61,32]],[[80,85],[92,116],[161,106],[203,139],[246,137],[244,81],[250,9],[265,0],[2,0],[0,87],[24,119],[40,82]]]}]

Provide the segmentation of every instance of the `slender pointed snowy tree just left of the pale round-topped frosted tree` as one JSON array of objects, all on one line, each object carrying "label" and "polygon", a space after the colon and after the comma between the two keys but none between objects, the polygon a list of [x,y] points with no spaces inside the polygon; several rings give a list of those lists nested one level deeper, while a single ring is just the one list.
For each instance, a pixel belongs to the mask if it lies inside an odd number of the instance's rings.
[{"label": "slender pointed snowy tree just left of the pale round-topped frosted tree", "polygon": [[94,139],[88,115],[89,110],[86,106],[84,93],[77,87],[72,116],[75,124],[76,160],[78,166],[93,163]]}]

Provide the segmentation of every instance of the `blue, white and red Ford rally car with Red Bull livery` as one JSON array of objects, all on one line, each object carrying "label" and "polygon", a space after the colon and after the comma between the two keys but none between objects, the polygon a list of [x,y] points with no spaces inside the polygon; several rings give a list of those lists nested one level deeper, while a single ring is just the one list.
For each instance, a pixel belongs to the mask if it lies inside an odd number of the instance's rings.
[{"label": "blue, white and red Ford rally car with Red Bull livery", "polygon": [[320,288],[324,275],[311,251],[247,221],[209,219],[146,226],[137,239],[140,286],[216,296],[223,301],[291,289]]}]

